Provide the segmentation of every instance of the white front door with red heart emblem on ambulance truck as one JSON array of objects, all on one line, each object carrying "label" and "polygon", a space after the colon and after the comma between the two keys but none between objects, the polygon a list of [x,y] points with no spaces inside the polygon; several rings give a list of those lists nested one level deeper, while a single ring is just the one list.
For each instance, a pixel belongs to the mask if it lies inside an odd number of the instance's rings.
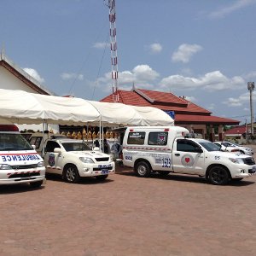
[{"label": "white front door with red heart emblem on ambulance truck", "polygon": [[188,139],[177,139],[172,150],[172,168],[173,172],[204,175],[205,157],[201,146]]}]

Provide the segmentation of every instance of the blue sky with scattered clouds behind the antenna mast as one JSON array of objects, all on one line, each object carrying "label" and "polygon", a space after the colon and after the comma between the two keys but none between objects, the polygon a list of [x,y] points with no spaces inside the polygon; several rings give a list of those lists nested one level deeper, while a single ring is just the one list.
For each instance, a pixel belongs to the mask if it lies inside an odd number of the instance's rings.
[{"label": "blue sky with scattered clouds behind the antenna mast", "polygon": [[[112,92],[103,0],[0,3],[2,49],[44,87],[88,100]],[[115,3],[119,89],[135,84],[172,92],[213,115],[250,122],[247,82],[256,80],[256,0]]]}]

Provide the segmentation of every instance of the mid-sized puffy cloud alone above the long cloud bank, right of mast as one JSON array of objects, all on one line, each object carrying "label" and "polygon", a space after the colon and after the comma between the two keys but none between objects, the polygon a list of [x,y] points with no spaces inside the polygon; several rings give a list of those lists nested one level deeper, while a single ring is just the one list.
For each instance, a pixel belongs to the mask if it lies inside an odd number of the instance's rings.
[{"label": "mid-sized puffy cloud alone above the long cloud bank, right of mast", "polygon": [[199,44],[181,44],[177,51],[172,54],[172,61],[188,63],[193,55],[203,49]]}]

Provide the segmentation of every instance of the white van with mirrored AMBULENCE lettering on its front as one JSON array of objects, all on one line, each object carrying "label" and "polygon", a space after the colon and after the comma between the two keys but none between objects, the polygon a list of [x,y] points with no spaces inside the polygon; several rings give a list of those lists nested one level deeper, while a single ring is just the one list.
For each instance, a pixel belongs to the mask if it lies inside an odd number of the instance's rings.
[{"label": "white van with mirrored AMBULENCE lettering on its front", "polygon": [[44,182],[44,160],[21,136],[17,126],[0,125],[0,185]]}]

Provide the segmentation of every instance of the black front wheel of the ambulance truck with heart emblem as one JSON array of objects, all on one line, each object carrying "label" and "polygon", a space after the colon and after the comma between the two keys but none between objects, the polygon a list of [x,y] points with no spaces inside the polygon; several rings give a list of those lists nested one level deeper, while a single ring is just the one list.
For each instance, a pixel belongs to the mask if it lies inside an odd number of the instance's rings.
[{"label": "black front wheel of the ambulance truck with heart emblem", "polygon": [[213,166],[209,172],[208,180],[213,185],[225,185],[230,181],[230,173],[223,166]]}]

